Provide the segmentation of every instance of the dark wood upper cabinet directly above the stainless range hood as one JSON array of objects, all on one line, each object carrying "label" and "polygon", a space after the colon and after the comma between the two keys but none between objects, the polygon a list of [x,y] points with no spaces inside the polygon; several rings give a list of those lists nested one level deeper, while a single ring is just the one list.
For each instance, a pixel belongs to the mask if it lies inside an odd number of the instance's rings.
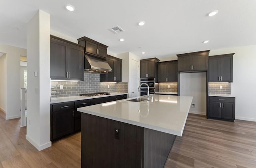
[{"label": "dark wood upper cabinet directly above the stainless range hood", "polygon": [[86,54],[93,55],[101,59],[106,59],[108,46],[94,41],[88,37],[81,37],[78,40],[78,44],[84,46],[84,51]]}]

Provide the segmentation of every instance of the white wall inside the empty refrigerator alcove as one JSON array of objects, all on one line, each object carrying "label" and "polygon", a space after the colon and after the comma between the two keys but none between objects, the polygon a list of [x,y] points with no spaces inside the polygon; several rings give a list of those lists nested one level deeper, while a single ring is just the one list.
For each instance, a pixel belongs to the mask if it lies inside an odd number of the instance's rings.
[{"label": "white wall inside the empty refrigerator alcove", "polygon": [[206,115],[206,72],[180,74],[180,96],[193,96],[189,113]]}]

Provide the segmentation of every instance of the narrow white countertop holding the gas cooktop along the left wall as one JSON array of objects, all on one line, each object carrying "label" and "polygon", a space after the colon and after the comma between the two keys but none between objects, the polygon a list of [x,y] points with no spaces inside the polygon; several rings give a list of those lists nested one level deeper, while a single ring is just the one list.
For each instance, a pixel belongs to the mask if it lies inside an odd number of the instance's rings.
[{"label": "narrow white countertop holding the gas cooktop along the left wall", "polygon": [[62,103],[62,102],[71,102],[76,100],[86,100],[86,99],[94,99],[94,98],[102,98],[102,97],[108,97],[108,96],[118,96],[122,94],[128,94],[128,93],[110,93],[109,95],[102,95],[102,96],[91,96],[91,97],[85,97],[85,96],[69,96],[69,97],[62,97],[62,98],[51,98],[51,104],[54,103]]}]

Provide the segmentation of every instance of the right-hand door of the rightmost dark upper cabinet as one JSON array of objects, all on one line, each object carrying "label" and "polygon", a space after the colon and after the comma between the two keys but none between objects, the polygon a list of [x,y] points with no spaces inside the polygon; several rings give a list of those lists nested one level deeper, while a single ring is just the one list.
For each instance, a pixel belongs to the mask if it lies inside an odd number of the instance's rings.
[{"label": "right-hand door of the rightmost dark upper cabinet", "polygon": [[220,58],[220,81],[233,82],[233,57]]}]

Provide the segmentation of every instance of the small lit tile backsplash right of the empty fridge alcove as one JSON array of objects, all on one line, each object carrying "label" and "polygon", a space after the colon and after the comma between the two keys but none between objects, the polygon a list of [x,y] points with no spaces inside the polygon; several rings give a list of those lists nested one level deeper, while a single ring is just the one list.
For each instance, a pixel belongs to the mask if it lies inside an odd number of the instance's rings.
[{"label": "small lit tile backsplash right of the empty fridge alcove", "polygon": [[[220,86],[222,86],[222,89],[220,89]],[[230,95],[231,94],[230,83],[209,83],[208,93]]]}]

